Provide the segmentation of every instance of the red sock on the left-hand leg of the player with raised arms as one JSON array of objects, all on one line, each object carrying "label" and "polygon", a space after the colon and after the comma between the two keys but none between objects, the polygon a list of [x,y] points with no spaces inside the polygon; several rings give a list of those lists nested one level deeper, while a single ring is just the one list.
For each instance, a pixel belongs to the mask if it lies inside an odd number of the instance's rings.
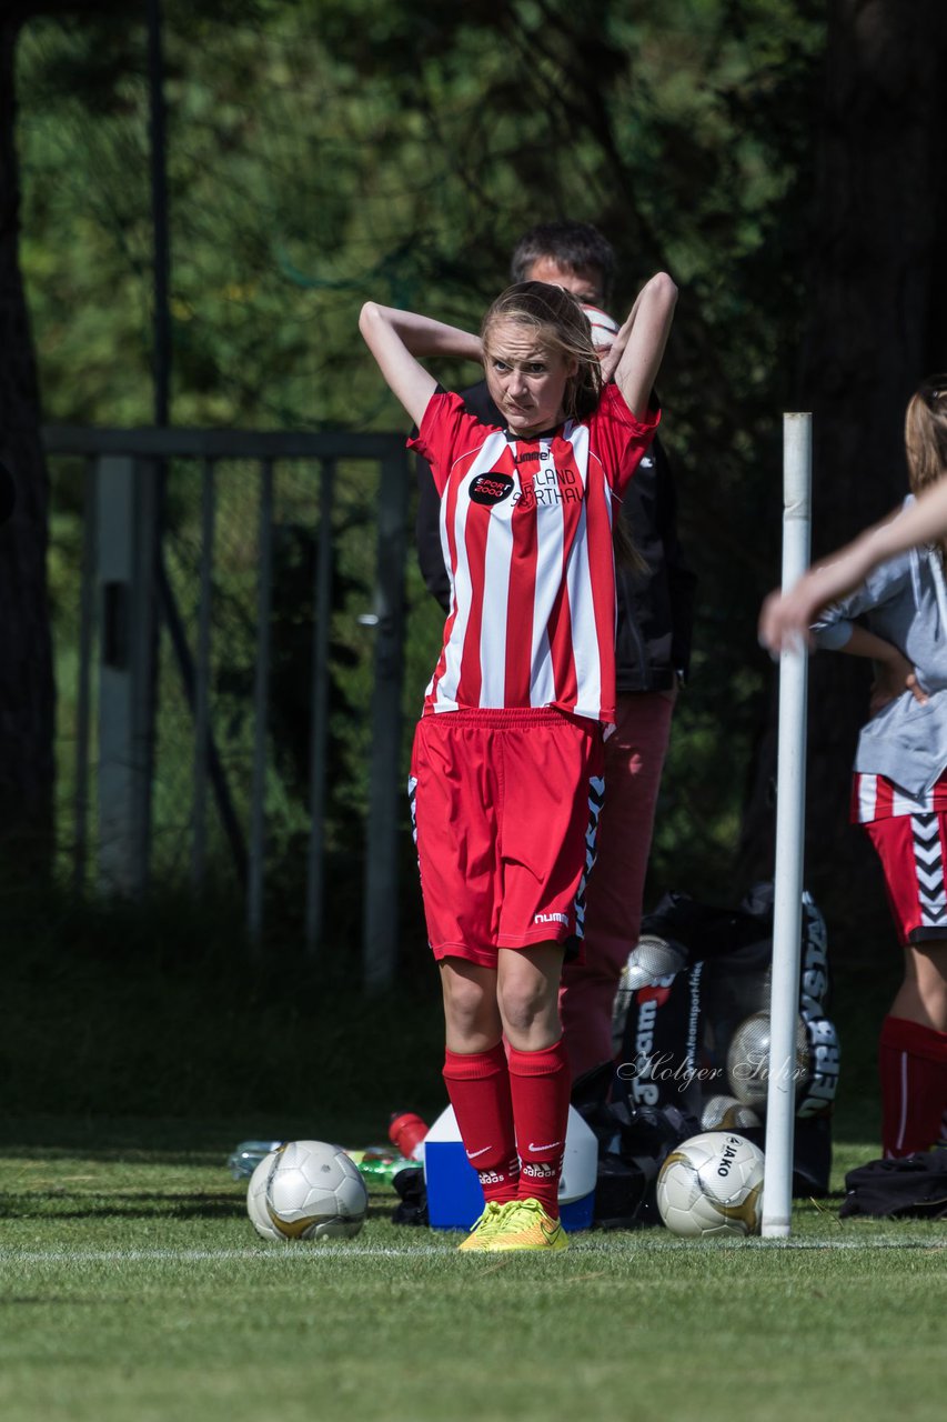
[{"label": "red sock on the left-hand leg of the player with raised arms", "polygon": [[483,1199],[498,1204],[515,1200],[519,1156],[503,1044],[498,1042],[489,1052],[461,1054],[445,1048],[444,1081]]}]

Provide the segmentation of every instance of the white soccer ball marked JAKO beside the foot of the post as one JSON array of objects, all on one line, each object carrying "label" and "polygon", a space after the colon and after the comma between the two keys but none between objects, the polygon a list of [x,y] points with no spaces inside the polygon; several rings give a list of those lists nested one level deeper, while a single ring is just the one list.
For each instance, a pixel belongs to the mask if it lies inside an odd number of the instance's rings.
[{"label": "white soccer ball marked JAKO beside the foot of the post", "polygon": [[661,1219],[674,1234],[758,1234],[764,1153],[732,1130],[705,1130],[667,1156],[657,1177]]}]

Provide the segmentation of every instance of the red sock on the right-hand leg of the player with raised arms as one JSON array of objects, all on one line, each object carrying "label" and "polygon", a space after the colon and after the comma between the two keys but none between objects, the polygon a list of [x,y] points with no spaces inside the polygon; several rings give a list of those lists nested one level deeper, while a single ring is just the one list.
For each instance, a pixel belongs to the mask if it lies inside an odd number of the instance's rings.
[{"label": "red sock on the right-hand leg of the player with raised arms", "polygon": [[566,1153],[572,1074],[562,1038],[539,1052],[509,1049],[516,1145],[522,1169],[520,1199],[539,1200],[559,1219],[559,1176]]}]

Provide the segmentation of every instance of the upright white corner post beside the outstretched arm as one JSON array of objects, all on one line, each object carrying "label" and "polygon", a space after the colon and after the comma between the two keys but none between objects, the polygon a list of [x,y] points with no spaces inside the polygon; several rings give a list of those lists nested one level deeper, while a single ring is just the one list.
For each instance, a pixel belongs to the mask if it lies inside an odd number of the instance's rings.
[{"label": "upright white corner post beside the outstretched arm", "polygon": [[[809,566],[812,415],[782,417],[782,590]],[[806,801],[808,651],[779,657],[779,755],[776,769],[776,869],[774,886],[772,987],[764,1239],[785,1239],[792,1221],[796,1025],[802,937],[802,869]]]}]

